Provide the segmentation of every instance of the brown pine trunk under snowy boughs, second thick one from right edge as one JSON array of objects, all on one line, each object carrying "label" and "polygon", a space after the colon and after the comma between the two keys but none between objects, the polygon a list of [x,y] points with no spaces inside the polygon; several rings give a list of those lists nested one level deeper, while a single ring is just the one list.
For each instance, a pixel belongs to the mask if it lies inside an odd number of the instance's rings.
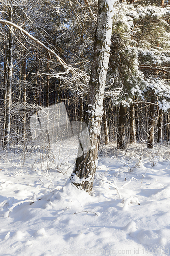
[{"label": "brown pine trunk under snowy boughs, second thick one from right edge", "polygon": [[[155,103],[156,96],[155,91],[151,92],[151,103]],[[149,137],[148,137],[148,148],[154,147],[154,129],[155,129],[155,105],[150,105],[150,122],[149,122]]]}]

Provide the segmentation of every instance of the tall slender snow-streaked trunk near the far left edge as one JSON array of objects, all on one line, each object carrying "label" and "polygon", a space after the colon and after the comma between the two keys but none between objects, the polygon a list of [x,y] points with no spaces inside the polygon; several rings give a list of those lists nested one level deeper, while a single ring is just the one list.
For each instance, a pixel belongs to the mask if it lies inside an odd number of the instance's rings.
[{"label": "tall slender snow-streaked trunk near the far left edge", "polygon": [[[9,21],[12,22],[12,6],[9,7]],[[8,79],[6,99],[6,124],[5,124],[5,146],[10,148],[11,130],[11,94],[12,94],[12,73],[13,73],[13,27],[9,26],[9,48],[8,48]]]}]

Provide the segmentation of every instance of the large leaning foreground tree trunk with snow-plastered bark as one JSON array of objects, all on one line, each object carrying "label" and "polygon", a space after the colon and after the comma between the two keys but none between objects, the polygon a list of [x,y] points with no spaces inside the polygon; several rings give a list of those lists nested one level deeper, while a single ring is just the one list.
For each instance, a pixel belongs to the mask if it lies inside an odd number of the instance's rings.
[{"label": "large leaning foreground tree trunk with snow-plastered bark", "polygon": [[98,163],[98,144],[103,116],[103,98],[110,57],[113,4],[114,1],[111,4],[107,0],[99,0],[98,2],[98,22],[95,31],[94,55],[85,118],[88,124],[91,148],[88,152],[83,152],[83,155],[76,159],[74,172],[70,176],[70,180],[74,185],[84,189],[88,193],[92,189],[95,169]]}]

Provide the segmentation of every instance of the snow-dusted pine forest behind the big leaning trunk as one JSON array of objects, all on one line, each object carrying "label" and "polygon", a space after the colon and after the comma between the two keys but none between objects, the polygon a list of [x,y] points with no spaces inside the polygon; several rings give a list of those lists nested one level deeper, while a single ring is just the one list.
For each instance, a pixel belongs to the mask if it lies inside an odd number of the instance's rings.
[{"label": "snow-dusted pine forest behind the big leaning trunk", "polygon": [[[25,151],[33,140],[31,116],[61,102],[69,121],[86,122],[89,130],[95,122],[89,124],[86,113],[101,108],[97,144],[114,141],[120,150],[136,142],[148,148],[154,147],[154,141],[168,144],[169,17],[168,1],[115,1],[103,103],[96,106],[88,99],[100,92],[91,82],[97,68],[92,65],[94,38],[100,35],[98,3],[4,0],[0,19],[2,150],[20,145]],[[101,54],[102,48],[97,51]],[[98,148],[97,144],[91,146]]]}]

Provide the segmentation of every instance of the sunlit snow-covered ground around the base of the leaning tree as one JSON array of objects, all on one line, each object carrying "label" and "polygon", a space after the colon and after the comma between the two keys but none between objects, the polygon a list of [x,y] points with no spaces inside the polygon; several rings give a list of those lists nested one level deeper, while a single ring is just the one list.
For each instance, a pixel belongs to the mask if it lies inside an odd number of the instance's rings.
[{"label": "sunlit snow-covered ground around the base of the leaning tree", "polygon": [[115,148],[101,147],[91,195],[65,185],[76,152],[57,168],[45,151],[1,152],[0,255],[169,255],[169,147]]}]

